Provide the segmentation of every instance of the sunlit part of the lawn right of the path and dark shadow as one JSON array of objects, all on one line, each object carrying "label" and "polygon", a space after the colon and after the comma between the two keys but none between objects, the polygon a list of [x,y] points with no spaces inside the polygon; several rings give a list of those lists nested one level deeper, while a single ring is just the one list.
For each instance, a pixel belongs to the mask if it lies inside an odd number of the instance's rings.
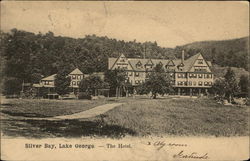
[{"label": "sunlit part of the lawn right of the path and dark shadow", "polygon": [[249,107],[224,106],[206,98],[137,99],[106,115],[106,124],[131,129],[139,136],[249,135]]}]

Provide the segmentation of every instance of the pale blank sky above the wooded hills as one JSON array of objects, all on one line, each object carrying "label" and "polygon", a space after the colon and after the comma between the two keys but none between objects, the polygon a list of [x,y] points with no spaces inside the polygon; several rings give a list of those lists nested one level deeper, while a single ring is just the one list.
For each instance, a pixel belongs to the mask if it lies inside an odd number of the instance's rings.
[{"label": "pale blank sky above the wooded hills", "polygon": [[232,1],[2,1],[1,30],[156,41],[175,47],[249,36],[249,4]]}]

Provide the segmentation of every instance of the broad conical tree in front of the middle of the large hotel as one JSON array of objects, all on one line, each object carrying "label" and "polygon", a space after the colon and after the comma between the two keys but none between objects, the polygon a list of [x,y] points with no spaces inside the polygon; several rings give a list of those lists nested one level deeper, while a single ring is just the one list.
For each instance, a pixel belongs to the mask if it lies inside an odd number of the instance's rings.
[{"label": "broad conical tree in front of the middle of the large hotel", "polygon": [[153,99],[156,98],[157,94],[164,95],[172,89],[170,77],[166,74],[161,64],[155,66],[142,87],[144,92],[152,93]]}]

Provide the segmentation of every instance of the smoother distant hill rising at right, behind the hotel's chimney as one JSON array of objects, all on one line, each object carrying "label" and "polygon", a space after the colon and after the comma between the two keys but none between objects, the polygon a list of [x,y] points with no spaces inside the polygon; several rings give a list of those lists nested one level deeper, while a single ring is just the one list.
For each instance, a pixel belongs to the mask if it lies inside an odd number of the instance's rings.
[{"label": "smoother distant hill rising at right, behind the hotel's chimney", "polygon": [[222,41],[200,41],[175,48],[176,57],[180,57],[181,50],[190,57],[197,52],[222,67],[239,67],[248,70],[249,37]]}]

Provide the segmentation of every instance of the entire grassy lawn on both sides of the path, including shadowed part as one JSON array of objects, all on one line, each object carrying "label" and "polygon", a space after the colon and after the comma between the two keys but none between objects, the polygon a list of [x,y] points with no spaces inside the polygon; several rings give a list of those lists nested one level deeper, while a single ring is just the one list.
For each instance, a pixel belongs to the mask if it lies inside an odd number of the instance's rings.
[{"label": "entire grassy lawn on both sides of the path, including shadowed part", "polygon": [[2,120],[4,135],[82,137],[125,135],[248,136],[249,107],[225,106],[208,98],[121,98],[82,100],[9,100],[8,115],[49,117],[81,112],[106,103],[123,102],[100,116],[78,120]]}]

